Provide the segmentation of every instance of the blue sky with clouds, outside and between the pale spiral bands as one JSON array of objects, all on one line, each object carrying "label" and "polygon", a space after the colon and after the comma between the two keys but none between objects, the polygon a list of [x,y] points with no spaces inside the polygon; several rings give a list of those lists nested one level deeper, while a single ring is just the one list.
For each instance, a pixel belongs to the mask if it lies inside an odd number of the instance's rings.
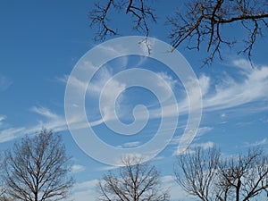
[{"label": "blue sky with clouds, outside and between the pale spiral bands", "polygon": [[[73,155],[73,171],[77,184],[75,200],[94,200],[96,181],[112,166],[99,163],[86,155],[74,142],[64,117],[66,82],[80,57],[99,42],[94,42],[96,29],[89,28],[88,11],[93,2],[75,1],[1,1],[0,3],[0,151],[12,147],[15,140],[42,127],[60,131],[67,151]],[[163,29],[163,16],[180,3],[155,4],[159,24],[153,26],[153,36],[164,42],[168,29]],[[162,17],[162,19],[160,18]],[[120,19],[117,19],[120,20]],[[120,21],[121,26],[124,22]],[[127,24],[125,25],[128,26]],[[236,29],[226,30],[235,34]],[[131,29],[123,36],[135,35]],[[243,33],[240,33],[243,34]],[[212,67],[200,68],[204,53],[179,48],[197,74],[202,90],[203,115],[192,142],[199,147],[221,148],[223,155],[236,155],[255,145],[268,149],[268,39],[258,40],[254,49],[255,69],[235,49],[223,49],[224,60],[215,60]],[[148,121],[144,130],[131,137],[111,132],[104,121],[98,121],[101,111],[98,100],[105,81],[133,67],[155,71],[172,88],[178,100],[178,128],[169,145],[153,160],[163,174],[163,185],[172,187],[172,199],[184,197],[172,182],[172,170],[180,136],[188,119],[186,93],[181,81],[163,63],[141,56],[124,56],[106,63],[88,88],[86,108],[89,121],[98,137],[114,147],[138,147],[152,138],[159,118]],[[113,90],[123,88],[119,80]],[[119,98],[116,108],[121,121],[130,123],[135,105],[147,105],[150,114],[157,113],[157,98],[143,88],[128,88]],[[106,101],[107,107],[111,104]],[[166,108],[172,115],[172,108]],[[155,114],[156,115],[156,114]]]}]

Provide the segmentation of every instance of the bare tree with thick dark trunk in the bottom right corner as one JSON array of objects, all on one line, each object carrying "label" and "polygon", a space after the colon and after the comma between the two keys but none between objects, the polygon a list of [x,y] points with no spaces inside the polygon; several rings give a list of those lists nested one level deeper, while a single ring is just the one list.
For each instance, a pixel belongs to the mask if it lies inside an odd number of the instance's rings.
[{"label": "bare tree with thick dark trunk in the bottom right corner", "polygon": [[268,155],[261,149],[225,159],[219,170],[220,200],[247,201],[268,190]]}]

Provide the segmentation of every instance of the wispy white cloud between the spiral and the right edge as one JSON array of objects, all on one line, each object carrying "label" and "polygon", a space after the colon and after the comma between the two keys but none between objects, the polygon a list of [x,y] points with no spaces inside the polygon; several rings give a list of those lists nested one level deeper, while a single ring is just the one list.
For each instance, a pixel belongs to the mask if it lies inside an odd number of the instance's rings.
[{"label": "wispy white cloud between the spiral and the right edge", "polygon": [[203,97],[205,111],[228,109],[268,99],[268,66],[253,69],[244,60],[233,61],[233,64],[236,65],[241,80],[227,76],[215,85],[214,92]]}]

